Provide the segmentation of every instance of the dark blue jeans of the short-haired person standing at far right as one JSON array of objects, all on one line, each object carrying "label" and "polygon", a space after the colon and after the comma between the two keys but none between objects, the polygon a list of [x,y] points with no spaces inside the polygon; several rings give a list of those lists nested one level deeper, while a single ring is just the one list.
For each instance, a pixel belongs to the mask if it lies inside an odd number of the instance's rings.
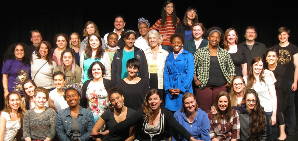
[{"label": "dark blue jeans of the short-haired person standing at far right", "polygon": [[295,99],[295,91],[292,92],[292,84],[294,81],[287,81],[287,89],[288,89],[288,105],[286,109],[286,130],[287,131],[294,131],[295,126],[296,126],[296,116],[295,116],[295,104],[294,104],[294,99]]}]

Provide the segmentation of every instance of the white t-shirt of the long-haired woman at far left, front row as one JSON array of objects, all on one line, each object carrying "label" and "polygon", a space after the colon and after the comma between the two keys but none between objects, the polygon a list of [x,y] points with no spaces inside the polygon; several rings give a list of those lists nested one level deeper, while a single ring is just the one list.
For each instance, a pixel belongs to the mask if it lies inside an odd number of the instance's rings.
[{"label": "white t-shirt of the long-haired woman at far left, front row", "polygon": [[12,141],[15,135],[18,133],[18,130],[21,128],[20,122],[19,122],[20,119],[18,119],[17,121],[11,121],[9,114],[7,112],[1,112],[1,115],[3,115],[6,119],[6,125],[4,130],[4,140]]}]

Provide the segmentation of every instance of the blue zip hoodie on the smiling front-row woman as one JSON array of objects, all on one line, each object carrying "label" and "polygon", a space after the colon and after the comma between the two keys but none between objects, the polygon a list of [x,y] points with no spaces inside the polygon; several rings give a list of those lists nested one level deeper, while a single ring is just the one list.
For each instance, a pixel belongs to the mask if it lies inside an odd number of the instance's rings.
[{"label": "blue zip hoodie on the smiling front-row woman", "polygon": [[[202,111],[198,108],[198,111],[195,115],[195,119],[193,120],[192,125],[188,122],[184,112],[180,112],[180,110],[174,113],[174,117],[176,120],[190,133],[196,140],[211,140],[209,136],[210,132],[210,122],[206,112]],[[176,134],[174,131],[172,132],[172,141],[181,140],[179,134]],[[186,139],[182,139],[184,141]]]}]

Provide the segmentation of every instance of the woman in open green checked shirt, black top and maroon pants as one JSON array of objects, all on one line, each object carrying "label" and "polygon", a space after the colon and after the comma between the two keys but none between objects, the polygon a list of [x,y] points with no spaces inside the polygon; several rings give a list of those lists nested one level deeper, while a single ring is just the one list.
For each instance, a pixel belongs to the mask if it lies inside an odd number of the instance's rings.
[{"label": "woman in open green checked shirt, black top and maroon pants", "polygon": [[227,91],[235,76],[235,67],[229,53],[218,46],[224,33],[219,27],[207,31],[209,44],[194,55],[197,86],[195,94],[199,108],[207,112],[220,91]]}]

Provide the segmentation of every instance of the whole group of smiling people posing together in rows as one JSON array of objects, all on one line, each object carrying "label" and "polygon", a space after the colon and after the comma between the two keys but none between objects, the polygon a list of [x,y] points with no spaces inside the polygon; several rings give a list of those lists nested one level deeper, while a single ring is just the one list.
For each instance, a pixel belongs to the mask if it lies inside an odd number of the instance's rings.
[{"label": "whole group of smiling people posing together in rows", "polygon": [[1,71],[0,141],[13,140],[19,129],[26,141],[55,140],[56,134],[73,141],[293,135],[298,48],[288,42],[288,28],[278,29],[280,43],[267,49],[248,26],[238,44],[235,29],[205,29],[195,7],[181,22],[170,0],[151,27],[139,18],[139,32],[124,29],[122,15],[114,26],[101,38],[88,21],[84,40],[57,34],[55,48],[32,30],[32,46],[9,46]]}]

